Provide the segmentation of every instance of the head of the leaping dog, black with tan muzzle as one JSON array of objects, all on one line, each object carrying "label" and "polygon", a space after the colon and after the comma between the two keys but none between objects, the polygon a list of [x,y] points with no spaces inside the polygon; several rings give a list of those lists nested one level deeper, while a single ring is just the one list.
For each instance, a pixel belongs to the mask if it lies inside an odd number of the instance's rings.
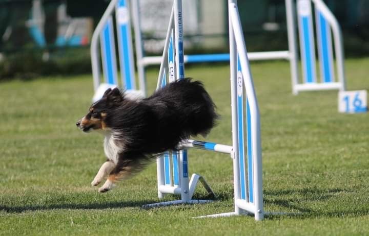
[{"label": "head of the leaping dog, black with tan muzzle", "polygon": [[120,106],[123,100],[124,97],[118,88],[107,89],[103,98],[91,105],[88,113],[76,123],[76,126],[84,132],[106,130],[108,127],[105,120],[109,111]]}]

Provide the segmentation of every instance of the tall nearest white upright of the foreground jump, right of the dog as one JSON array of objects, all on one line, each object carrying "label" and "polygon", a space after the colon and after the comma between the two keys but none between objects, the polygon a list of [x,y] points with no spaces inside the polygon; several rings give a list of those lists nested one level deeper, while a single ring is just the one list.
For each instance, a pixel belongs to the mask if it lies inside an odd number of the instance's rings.
[{"label": "tall nearest white upright of the foreground jump, right of the dog", "polygon": [[207,217],[253,214],[262,220],[260,113],[236,0],[228,1],[228,12],[235,210]]}]

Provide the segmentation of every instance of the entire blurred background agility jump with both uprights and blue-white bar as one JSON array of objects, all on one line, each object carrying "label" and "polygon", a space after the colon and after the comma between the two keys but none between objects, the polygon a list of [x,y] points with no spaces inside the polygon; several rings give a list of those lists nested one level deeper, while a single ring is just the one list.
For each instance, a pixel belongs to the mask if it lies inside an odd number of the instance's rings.
[{"label": "entire blurred background agility jump with both uprights and blue-white bar", "polygon": [[[296,4],[295,4],[296,3]],[[95,92],[103,82],[121,86],[128,90],[139,90],[146,95],[145,67],[160,64],[160,56],[144,56],[140,31],[139,1],[112,0],[98,23],[91,40],[91,62]],[[313,8],[316,26],[313,25]],[[286,51],[251,52],[249,60],[288,60],[291,68],[292,91],[295,95],[305,90],[345,90],[343,39],[339,23],[322,0],[285,0],[288,47]],[[119,70],[121,82],[117,79],[115,37],[112,14],[115,12],[117,44],[119,48]],[[131,13],[131,14],[130,14]],[[139,86],[134,76],[131,19],[135,34],[135,52]],[[298,29],[298,33],[296,32]],[[315,30],[314,30],[315,29]],[[314,35],[316,32],[316,36]],[[333,35],[333,38],[332,38]],[[100,38],[101,62],[104,80],[100,78],[98,42]],[[301,69],[298,61],[300,44]],[[334,42],[334,47],[332,45]],[[318,49],[319,74],[315,66],[315,45]],[[229,61],[230,54],[183,55],[184,63]],[[302,76],[299,76],[301,73]],[[105,86],[107,88],[109,86]],[[104,90],[101,89],[101,90]]]}]

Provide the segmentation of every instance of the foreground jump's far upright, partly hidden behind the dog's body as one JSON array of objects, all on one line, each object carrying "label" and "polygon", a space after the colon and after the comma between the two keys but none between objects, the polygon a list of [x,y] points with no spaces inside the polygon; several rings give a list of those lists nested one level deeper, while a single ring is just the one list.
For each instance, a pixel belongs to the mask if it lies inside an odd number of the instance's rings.
[{"label": "foreground jump's far upright, partly hidden behind the dog's body", "polygon": [[[175,0],[161,59],[157,88],[165,86],[168,82],[185,78],[182,19],[182,2]],[[161,199],[166,194],[175,194],[180,195],[181,200],[147,204],[143,207],[211,202],[192,199],[198,181],[208,193],[215,196],[211,187],[200,175],[193,174],[189,180],[187,150],[169,151],[157,159],[158,197]]]}]

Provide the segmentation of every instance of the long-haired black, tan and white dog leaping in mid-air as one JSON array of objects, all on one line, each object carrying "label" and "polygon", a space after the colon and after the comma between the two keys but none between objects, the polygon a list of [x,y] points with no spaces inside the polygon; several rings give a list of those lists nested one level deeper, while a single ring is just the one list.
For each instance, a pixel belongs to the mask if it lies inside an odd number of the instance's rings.
[{"label": "long-haired black, tan and white dog leaping in mid-air", "polygon": [[129,99],[118,88],[107,89],[76,126],[105,135],[106,162],[91,185],[106,182],[98,191],[111,190],[119,180],[146,167],[181,140],[206,136],[215,126],[216,106],[199,81],[186,78],[156,90],[149,98]]}]

